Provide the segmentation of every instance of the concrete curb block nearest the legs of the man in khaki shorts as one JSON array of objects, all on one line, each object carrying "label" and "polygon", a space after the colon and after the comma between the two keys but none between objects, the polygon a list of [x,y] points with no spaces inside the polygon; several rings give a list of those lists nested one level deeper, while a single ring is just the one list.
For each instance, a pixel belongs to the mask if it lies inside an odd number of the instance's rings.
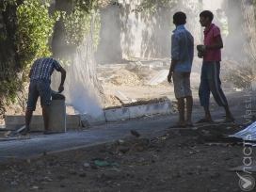
[{"label": "concrete curb block nearest the legs of the man in khaki shorts", "polygon": [[171,104],[145,104],[139,106],[132,106],[129,108],[130,118],[142,117],[144,115],[151,115],[156,113],[168,113],[172,110]]}]

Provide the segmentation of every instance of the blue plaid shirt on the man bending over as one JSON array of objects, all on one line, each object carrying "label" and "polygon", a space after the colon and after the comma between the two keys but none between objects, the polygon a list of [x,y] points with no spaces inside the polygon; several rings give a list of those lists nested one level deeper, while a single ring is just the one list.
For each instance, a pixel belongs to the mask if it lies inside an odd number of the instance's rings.
[{"label": "blue plaid shirt on the man bending over", "polygon": [[39,58],[32,65],[32,74],[30,80],[47,79],[51,81],[51,75],[54,70],[61,68],[61,65],[54,58]]}]

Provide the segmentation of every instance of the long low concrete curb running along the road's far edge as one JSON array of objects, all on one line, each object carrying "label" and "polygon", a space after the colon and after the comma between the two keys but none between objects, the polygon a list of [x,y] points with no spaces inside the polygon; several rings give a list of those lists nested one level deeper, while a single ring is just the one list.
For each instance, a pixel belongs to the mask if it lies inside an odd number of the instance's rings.
[{"label": "long low concrete curb running along the road's far edge", "polygon": [[[131,107],[121,107],[115,109],[103,110],[98,117],[92,117],[90,114],[66,115],[66,127],[81,127],[81,121],[87,120],[91,125],[99,125],[117,120],[127,120],[141,118],[145,115],[167,114],[172,111],[170,101],[159,104],[144,104]],[[17,130],[24,126],[24,116],[5,116],[6,128],[8,130]],[[43,130],[43,119],[41,115],[33,116],[30,129]],[[53,131],[57,131],[54,130]]]}]

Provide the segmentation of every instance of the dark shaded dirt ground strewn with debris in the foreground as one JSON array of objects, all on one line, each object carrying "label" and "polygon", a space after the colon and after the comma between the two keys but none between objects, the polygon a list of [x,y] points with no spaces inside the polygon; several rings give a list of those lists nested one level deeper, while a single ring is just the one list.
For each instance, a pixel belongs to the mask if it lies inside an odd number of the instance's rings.
[{"label": "dark shaded dirt ground strewn with debris in the foreground", "polygon": [[[232,134],[244,126],[172,129],[162,137],[149,140],[131,135],[94,150],[44,153],[35,159],[8,158],[0,163],[0,188],[4,192],[238,192],[239,178],[228,169],[243,164],[244,148],[235,143],[209,145],[204,139]],[[113,167],[100,167],[97,160]]]}]

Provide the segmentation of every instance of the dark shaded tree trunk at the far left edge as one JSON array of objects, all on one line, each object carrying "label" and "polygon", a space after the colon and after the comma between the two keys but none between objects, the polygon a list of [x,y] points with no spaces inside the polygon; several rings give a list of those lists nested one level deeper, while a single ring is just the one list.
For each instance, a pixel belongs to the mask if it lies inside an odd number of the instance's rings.
[{"label": "dark shaded tree trunk at the far left edge", "polygon": [[[8,5],[5,11],[0,12],[0,119],[4,114],[3,105],[6,99],[14,93],[14,90],[9,88],[8,85],[18,84],[24,72],[24,68],[19,61],[17,45],[13,38],[17,30],[16,10],[16,6]],[[24,92],[22,88],[16,95],[19,104],[23,107],[25,105]]]}]

